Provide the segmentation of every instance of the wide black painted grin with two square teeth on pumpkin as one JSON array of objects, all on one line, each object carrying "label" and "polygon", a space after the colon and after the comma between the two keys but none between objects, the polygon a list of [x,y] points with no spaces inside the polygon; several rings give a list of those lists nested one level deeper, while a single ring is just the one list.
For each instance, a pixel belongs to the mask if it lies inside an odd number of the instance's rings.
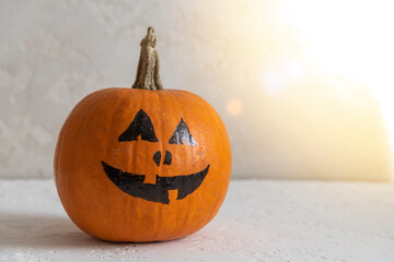
[{"label": "wide black painted grin with two square teeth on pumpkin", "polygon": [[177,190],[176,200],[183,200],[193,193],[206,178],[209,165],[201,171],[175,177],[157,175],[155,183],[143,183],[144,175],[123,171],[102,162],[103,168],[111,181],[121,191],[135,198],[169,204],[169,190]]}]

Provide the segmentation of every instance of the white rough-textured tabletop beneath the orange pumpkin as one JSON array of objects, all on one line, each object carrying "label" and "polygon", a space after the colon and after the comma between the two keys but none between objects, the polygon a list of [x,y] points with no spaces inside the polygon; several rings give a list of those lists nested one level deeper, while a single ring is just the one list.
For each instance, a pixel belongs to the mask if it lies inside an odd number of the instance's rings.
[{"label": "white rough-textured tabletop beneath the orange pumpkin", "polygon": [[107,243],[67,217],[53,180],[0,180],[0,261],[392,262],[394,184],[232,180],[218,216],[184,239]]}]

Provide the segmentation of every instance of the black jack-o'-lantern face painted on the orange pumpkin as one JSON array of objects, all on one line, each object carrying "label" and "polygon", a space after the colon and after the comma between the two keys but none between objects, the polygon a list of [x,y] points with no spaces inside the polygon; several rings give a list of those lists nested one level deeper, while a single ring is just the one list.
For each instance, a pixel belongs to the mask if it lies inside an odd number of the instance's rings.
[{"label": "black jack-o'-lantern face painted on the orange pumpkin", "polygon": [[[141,109],[136,114],[130,126],[119,135],[120,143],[144,140],[151,143],[159,142],[154,128],[149,116]],[[175,128],[173,135],[170,138],[169,144],[178,144],[183,146],[197,146],[186,122],[181,119]],[[165,151],[162,162],[162,153],[158,151],[153,154],[152,160],[155,165],[171,165],[172,153]],[[153,164],[153,163],[152,163]],[[137,175],[124,171],[121,167],[116,168],[102,160],[103,169],[111,181],[121,191],[135,198],[144,199],[152,202],[169,204],[169,190],[177,190],[176,200],[183,200],[193,193],[202,183],[209,171],[209,165],[202,170],[173,177],[159,176],[155,177],[155,183],[144,183],[146,175]]]}]

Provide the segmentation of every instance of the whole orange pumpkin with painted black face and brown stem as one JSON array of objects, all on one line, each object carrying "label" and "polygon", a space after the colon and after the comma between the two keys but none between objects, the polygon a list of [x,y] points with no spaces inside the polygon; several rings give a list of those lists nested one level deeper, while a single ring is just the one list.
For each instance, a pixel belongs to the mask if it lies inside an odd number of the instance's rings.
[{"label": "whole orange pumpkin with painted black face and brown stem", "polygon": [[132,88],[83,98],[55,152],[61,203],[83,231],[107,241],[163,241],[204,227],[230,180],[231,151],[215,109],[163,90],[153,28],[141,41]]}]

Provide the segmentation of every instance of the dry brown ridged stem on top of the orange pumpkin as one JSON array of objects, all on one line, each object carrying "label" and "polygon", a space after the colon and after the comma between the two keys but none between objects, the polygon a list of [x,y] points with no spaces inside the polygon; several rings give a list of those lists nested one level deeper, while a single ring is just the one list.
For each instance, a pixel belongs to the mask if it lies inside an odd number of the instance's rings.
[{"label": "dry brown ridged stem on top of the orange pumpkin", "polygon": [[146,37],[141,40],[141,52],[138,62],[136,82],[131,88],[163,90],[159,74],[159,53],[155,48],[154,28],[148,27]]}]

